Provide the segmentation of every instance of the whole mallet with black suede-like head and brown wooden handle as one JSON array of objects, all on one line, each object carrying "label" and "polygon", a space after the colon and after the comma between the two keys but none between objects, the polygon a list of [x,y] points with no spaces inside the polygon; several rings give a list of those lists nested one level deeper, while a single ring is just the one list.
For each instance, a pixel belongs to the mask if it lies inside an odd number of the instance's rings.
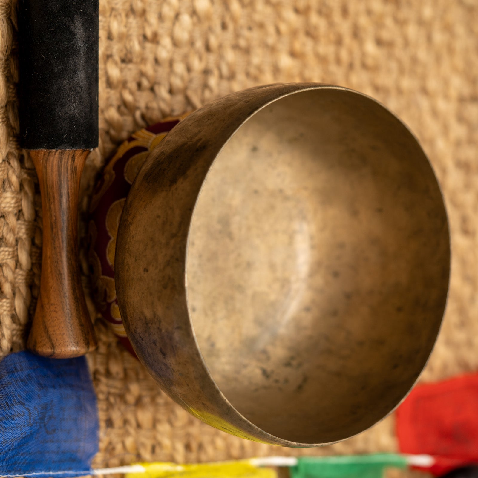
[{"label": "whole mallet with black suede-like head and brown wooden handle", "polygon": [[27,346],[45,357],[96,347],[83,293],[78,190],[98,146],[98,0],[20,0],[20,146],[30,150],[43,209],[40,296]]}]

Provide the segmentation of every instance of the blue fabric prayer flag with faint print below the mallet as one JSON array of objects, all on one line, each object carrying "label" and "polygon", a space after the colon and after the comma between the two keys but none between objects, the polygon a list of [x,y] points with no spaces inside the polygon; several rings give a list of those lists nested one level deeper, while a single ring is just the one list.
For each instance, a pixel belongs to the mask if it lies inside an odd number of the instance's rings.
[{"label": "blue fabric prayer flag with faint print below the mallet", "polygon": [[85,357],[24,351],[0,361],[0,476],[89,474],[98,428]]}]

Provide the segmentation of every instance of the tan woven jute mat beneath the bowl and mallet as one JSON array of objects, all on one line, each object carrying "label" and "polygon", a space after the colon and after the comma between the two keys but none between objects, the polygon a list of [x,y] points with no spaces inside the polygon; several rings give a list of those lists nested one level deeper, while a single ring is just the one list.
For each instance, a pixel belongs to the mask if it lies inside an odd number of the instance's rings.
[{"label": "tan woven jute mat beneath the bowl and mallet", "polygon": [[[18,150],[15,5],[0,0],[0,356],[24,347],[40,279],[42,218],[33,164]],[[98,172],[131,132],[258,84],[357,89],[416,133],[443,187],[452,275],[423,380],[478,369],[478,2],[476,0],[100,0],[100,144],[82,178],[80,231]],[[85,239],[82,239],[85,244]],[[96,317],[89,361],[101,422],[98,466],[265,454],[396,450],[393,415],[321,449],[226,435],[166,397]]]}]

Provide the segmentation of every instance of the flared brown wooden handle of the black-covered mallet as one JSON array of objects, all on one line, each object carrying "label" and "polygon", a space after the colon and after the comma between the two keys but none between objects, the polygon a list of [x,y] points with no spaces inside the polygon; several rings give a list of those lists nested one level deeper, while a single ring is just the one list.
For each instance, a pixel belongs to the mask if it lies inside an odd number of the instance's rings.
[{"label": "flared brown wooden handle of the black-covered mallet", "polygon": [[77,205],[88,150],[35,150],[43,209],[40,296],[28,348],[44,357],[78,357],[96,347],[78,262]]}]

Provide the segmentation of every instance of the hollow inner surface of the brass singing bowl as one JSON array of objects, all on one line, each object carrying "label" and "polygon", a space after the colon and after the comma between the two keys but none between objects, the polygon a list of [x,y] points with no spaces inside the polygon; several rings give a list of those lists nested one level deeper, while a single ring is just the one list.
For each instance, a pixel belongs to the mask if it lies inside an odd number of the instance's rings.
[{"label": "hollow inner surface of the brass singing bowl", "polygon": [[299,443],[355,435],[413,386],[445,308],[434,173],[370,98],[318,89],[253,115],[213,164],[187,255],[192,324],[228,401]]}]

